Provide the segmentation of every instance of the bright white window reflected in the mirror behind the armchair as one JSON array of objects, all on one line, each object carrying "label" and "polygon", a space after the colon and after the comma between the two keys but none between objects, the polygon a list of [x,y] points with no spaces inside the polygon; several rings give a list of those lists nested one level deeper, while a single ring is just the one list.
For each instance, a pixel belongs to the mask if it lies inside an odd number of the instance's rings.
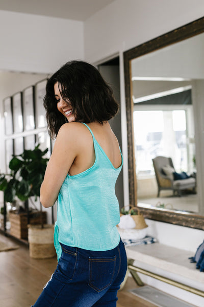
[{"label": "bright white window reflected in the mirror behind the armchair", "polygon": [[185,109],[134,111],[138,178],[154,175],[152,159],[157,156],[171,157],[177,172],[193,170],[194,148],[187,135],[187,118]]}]

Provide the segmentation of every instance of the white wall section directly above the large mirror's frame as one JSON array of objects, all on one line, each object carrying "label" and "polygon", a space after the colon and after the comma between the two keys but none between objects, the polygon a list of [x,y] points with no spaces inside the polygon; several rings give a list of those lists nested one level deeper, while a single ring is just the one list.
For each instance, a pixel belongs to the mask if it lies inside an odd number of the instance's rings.
[{"label": "white wall section directly above the large mirror's frame", "polygon": [[85,58],[96,62],[203,15],[202,0],[116,0],[85,21]]}]

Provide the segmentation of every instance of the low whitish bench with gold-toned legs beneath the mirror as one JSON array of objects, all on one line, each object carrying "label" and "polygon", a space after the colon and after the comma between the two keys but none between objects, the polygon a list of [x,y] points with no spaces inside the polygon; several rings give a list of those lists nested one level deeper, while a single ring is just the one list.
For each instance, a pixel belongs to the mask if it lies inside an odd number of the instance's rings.
[{"label": "low whitish bench with gold-toned legs beneath the mirror", "polygon": [[126,253],[128,273],[139,286],[143,286],[143,282],[138,272],[204,297],[204,272],[190,262],[192,252],[154,243],[126,247]]}]

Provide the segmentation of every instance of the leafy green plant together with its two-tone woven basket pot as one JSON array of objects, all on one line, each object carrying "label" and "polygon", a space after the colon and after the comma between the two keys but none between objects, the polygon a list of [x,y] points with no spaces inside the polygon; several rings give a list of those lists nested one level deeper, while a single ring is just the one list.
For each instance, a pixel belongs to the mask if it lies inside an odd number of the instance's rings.
[{"label": "leafy green plant together with its two-tone woven basket pot", "polygon": [[[0,190],[4,191],[4,201],[13,203],[20,201],[32,202],[32,196],[40,196],[47,158],[43,158],[48,149],[42,151],[39,144],[33,150],[24,150],[21,155],[14,156],[10,163],[10,173],[0,174]],[[25,208],[29,216],[29,208]],[[28,238],[30,255],[34,258],[47,258],[55,255],[53,245],[53,225],[44,225],[42,205],[40,204],[41,225],[29,225]],[[36,223],[36,221],[34,222]],[[49,237],[49,238],[48,238]],[[39,245],[44,245],[40,247]]]}]

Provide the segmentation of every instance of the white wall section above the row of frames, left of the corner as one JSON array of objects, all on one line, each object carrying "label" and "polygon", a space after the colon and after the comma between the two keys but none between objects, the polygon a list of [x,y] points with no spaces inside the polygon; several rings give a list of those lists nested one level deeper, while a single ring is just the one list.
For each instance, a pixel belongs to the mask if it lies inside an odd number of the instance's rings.
[{"label": "white wall section above the row of frames, left of the corner", "polygon": [[0,70],[50,73],[84,58],[82,21],[0,11]]}]

